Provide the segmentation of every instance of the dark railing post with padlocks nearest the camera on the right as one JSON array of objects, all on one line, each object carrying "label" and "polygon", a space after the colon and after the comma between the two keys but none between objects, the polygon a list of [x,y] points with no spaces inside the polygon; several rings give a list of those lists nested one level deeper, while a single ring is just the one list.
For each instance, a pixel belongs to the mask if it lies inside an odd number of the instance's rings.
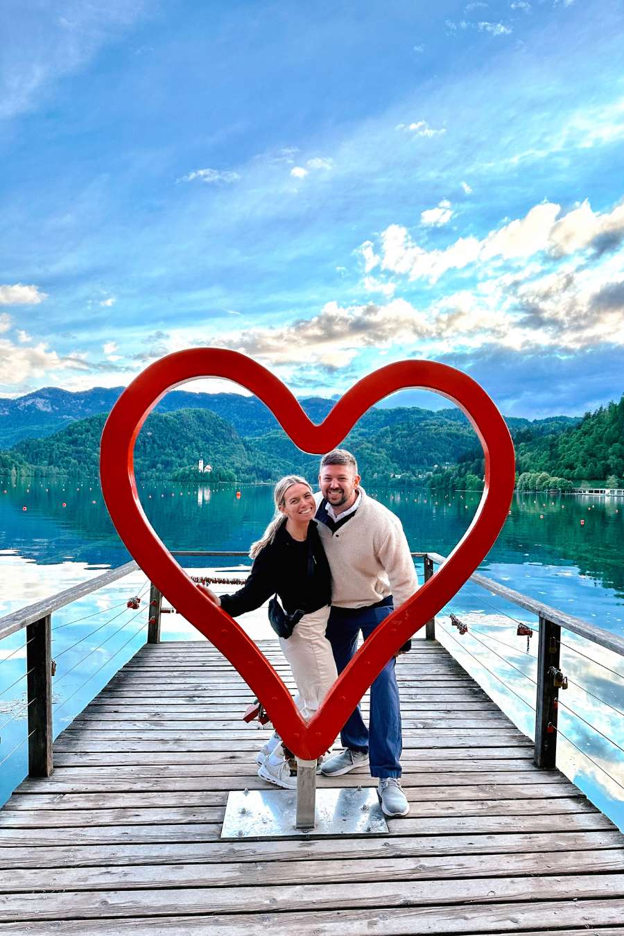
[{"label": "dark railing post with padlocks nearest the camera on the right", "polygon": [[535,709],[536,767],[554,768],[557,758],[557,711],[559,689],[550,672],[559,669],[559,640],[561,628],[540,617],[540,635],[537,653],[537,705]]}]

